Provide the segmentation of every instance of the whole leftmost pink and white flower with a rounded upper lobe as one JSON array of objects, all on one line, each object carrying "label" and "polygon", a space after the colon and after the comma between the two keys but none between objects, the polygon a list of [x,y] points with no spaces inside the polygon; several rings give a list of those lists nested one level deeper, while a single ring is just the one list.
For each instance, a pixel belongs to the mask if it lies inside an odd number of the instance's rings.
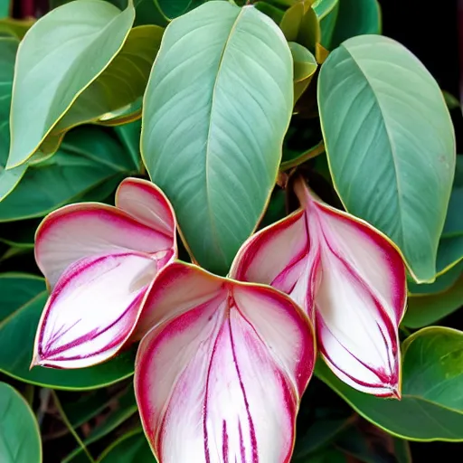
[{"label": "whole leftmost pink and white flower with a rounded upper lobe", "polygon": [[125,179],[116,207],[80,203],[49,214],[35,237],[35,259],[52,293],[33,364],[80,368],[116,354],[146,290],[176,253],[174,211],[145,180]]}]

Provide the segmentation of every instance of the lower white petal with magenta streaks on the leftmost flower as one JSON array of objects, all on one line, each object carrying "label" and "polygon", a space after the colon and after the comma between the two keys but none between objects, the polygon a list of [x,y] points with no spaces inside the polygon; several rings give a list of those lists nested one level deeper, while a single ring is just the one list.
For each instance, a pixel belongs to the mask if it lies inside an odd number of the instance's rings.
[{"label": "lower white petal with magenta streaks on the leftmost flower", "polygon": [[80,368],[116,354],[136,325],[156,271],[156,260],[137,253],[72,264],[43,309],[33,364]]}]

